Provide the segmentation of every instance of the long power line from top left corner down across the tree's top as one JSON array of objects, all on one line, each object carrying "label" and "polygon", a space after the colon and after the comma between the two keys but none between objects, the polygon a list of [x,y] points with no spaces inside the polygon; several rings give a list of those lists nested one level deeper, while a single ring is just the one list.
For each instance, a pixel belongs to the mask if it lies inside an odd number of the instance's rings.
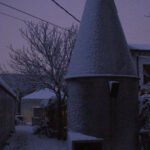
[{"label": "long power line from top left corner down across the tree's top", "polygon": [[40,21],[46,22],[46,23],[48,23],[48,24],[50,24],[50,25],[52,25],[52,26],[58,27],[58,28],[60,28],[60,29],[67,30],[67,29],[65,29],[65,28],[63,28],[63,27],[61,27],[61,26],[59,26],[59,25],[56,25],[56,24],[50,22],[50,21],[46,21],[46,20],[44,20],[44,19],[42,19],[42,18],[40,18],[40,17],[37,17],[37,16],[32,15],[32,14],[30,14],[30,13],[27,13],[27,12],[21,10],[21,9],[16,8],[16,7],[10,6],[10,5],[6,4],[6,3],[0,2],[0,5],[3,5],[3,6],[8,7],[8,8],[11,8],[11,9],[13,9],[13,10],[16,10],[16,11],[22,13],[22,14],[25,14],[25,15],[28,15],[28,16],[30,16],[30,17],[32,17],[32,18],[35,18],[35,19],[38,19],[38,20],[40,20]]}]

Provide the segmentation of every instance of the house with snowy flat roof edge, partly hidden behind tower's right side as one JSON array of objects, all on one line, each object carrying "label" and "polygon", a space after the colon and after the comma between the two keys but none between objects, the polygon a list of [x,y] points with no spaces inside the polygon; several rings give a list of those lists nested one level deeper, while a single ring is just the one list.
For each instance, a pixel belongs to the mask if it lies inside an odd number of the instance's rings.
[{"label": "house with snowy flat roof edge, partly hidden behind tower's right side", "polygon": [[140,86],[150,83],[150,45],[129,44]]}]

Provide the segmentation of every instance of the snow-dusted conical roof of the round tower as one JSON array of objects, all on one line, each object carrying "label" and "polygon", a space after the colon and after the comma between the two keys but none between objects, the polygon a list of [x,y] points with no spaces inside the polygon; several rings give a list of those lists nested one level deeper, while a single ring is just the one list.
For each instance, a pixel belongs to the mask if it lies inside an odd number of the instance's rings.
[{"label": "snow-dusted conical roof of the round tower", "polygon": [[114,0],[87,0],[66,78],[88,76],[136,77]]}]

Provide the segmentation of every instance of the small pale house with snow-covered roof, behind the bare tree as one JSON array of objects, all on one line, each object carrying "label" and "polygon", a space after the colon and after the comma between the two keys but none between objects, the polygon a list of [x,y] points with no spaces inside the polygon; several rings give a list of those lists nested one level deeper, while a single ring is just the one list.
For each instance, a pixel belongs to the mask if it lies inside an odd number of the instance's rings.
[{"label": "small pale house with snow-covered roof, behind the bare tree", "polygon": [[42,108],[48,105],[49,100],[52,101],[54,97],[56,97],[54,92],[48,88],[24,96],[21,103],[21,114],[25,123],[31,124],[32,121],[36,122],[40,119],[42,117]]}]

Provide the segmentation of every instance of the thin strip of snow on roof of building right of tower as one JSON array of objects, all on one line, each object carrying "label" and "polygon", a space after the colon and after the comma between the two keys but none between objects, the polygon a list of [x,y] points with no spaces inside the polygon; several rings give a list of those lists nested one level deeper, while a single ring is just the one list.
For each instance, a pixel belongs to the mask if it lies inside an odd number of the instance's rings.
[{"label": "thin strip of snow on roof of building right of tower", "polygon": [[146,45],[146,44],[129,44],[129,49],[149,50],[150,51],[150,45]]}]

